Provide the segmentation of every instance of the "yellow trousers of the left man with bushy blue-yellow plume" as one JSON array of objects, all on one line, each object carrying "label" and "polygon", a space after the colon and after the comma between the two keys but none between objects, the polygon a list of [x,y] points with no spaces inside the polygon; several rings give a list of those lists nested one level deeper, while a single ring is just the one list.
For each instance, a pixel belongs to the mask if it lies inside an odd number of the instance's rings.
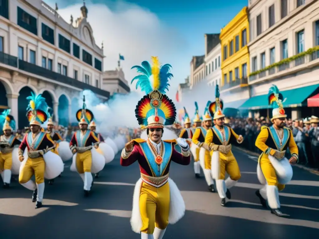
[{"label": "yellow trousers of the left man with bushy blue-yellow plume", "polygon": [[19,183],[28,182],[31,177],[35,176],[35,182],[41,184],[44,182],[45,162],[43,157],[28,158],[21,173],[19,174]]}]

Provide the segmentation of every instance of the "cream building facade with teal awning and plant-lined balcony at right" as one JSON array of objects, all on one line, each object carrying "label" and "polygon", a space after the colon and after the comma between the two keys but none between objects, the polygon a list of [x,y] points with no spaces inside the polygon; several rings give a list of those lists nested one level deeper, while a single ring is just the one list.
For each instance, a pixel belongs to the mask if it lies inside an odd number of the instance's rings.
[{"label": "cream building facade with teal awning and plant-lined balcony at right", "polygon": [[251,0],[249,25],[250,99],[242,107],[269,114],[265,96],[276,84],[289,118],[318,113],[307,98],[319,93],[319,1]]}]

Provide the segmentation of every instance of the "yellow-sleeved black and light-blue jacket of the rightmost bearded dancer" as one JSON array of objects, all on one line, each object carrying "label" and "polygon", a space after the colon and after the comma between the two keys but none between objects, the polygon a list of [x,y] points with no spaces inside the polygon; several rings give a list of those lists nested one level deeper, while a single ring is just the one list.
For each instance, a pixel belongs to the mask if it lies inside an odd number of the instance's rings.
[{"label": "yellow-sleeved black and light-blue jacket of the rightmost bearded dancer", "polygon": [[293,139],[293,133],[291,129],[284,127],[282,142],[280,145],[280,140],[277,134],[277,130],[272,126],[261,127],[260,133],[257,136],[255,145],[261,151],[262,155],[274,156],[276,152],[283,152],[289,148],[291,156],[295,156],[298,160],[298,147]]}]

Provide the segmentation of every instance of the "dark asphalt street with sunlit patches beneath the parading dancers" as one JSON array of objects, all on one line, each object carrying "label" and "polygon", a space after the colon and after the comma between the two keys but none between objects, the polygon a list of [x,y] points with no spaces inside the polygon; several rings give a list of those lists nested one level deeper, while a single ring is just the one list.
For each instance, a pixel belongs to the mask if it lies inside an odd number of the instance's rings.
[{"label": "dark asphalt street with sunlit patches beneath the parading dancers", "polygon": [[[169,225],[164,238],[314,238],[319,234],[319,176],[294,167],[293,180],[280,193],[279,218],[265,210],[255,196],[261,185],[253,156],[234,150],[241,180],[231,189],[232,200],[220,206],[217,193],[196,179],[193,165],[171,164],[170,176],[182,192],[185,216]],[[13,182],[0,188],[0,238],[140,238],[131,231],[130,210],[138,164],[121,167],[119,154],[95,179],[89,198],[83,196],[81,178],[69,170],[70,162],[54,185],[46,184],[45,205],[35,209],[32,192]]]}]

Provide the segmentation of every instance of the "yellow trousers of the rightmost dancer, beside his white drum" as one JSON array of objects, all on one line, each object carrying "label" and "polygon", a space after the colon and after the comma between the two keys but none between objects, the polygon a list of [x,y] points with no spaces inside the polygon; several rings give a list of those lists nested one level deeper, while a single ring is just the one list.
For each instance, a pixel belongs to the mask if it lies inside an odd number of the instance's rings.
[{"label": "yellow trousers of the rightmost dancer, beside his white drum", "polygon": [[263,172],[263,176],[265,176],[267,185],[274,185],[278,187],[278,191],[282,191],[285,188],[284,184],[279,184],[276,171],[274,167],[272,166],[270,160],[268,159],[268,156],[263,154],[261,156],[260,160],[260,168]]}]

